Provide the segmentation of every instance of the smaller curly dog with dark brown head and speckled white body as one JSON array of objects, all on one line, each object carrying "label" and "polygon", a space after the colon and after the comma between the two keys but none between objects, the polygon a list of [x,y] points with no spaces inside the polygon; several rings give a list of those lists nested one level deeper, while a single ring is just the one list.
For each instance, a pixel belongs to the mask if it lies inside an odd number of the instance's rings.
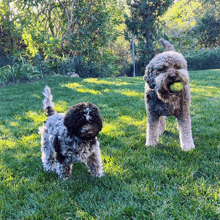
[{"label": "smaller curly dog with dark brown head and speckled white body", "polygon": [[104,175],[97,135],[102,116],[92,103],[78,103],[65,114],[56,113],[48,86],[43,92],[43,108],[48,117],[40,128],[42,162],[46,171],[56,171],[67,179],[74,162],[84,162],[93,177]]}]

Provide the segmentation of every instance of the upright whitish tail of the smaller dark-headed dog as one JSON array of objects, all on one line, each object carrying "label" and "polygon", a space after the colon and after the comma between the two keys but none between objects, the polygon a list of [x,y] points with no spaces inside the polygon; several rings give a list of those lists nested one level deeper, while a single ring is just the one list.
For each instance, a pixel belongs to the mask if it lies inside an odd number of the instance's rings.
[{"label": "upright whitish tail of the smaller dark-headed dog", "polygon": [[43,95],[45,96],[44,100],[43,100],[43,109],[45,111],[45,115],[47,117],[54,115],[56,112],[54,110],[54,103],[52,101],[53,96],[51,94],[51,90],[49,86],[46,86],[44,88],[44,92],[42,92]]}]

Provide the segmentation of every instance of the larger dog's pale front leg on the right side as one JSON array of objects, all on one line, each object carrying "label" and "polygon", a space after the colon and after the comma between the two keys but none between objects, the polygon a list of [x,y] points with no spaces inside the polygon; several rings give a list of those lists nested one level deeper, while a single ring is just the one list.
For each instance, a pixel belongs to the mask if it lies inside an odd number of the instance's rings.
[{"label": "larger dog's pale front leg on the right side", "polygon": [[191,119],[188,112],[177,117],[177,126],[179,129],[180,145],[182,150],[189,151],[194,149],[195,145],[192,138]]}]

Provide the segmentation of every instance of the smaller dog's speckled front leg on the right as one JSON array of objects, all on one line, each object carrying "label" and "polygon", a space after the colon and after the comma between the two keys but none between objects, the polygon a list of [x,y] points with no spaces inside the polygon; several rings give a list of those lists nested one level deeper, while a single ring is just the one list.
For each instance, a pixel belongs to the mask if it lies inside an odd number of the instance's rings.
[{"label": "smaller dog's speckled front leg on the right", "polygon": [[93,145],[93,152],[87,158],[85,164],[88,167],[88,172],[91,174],[91,176],[102,177],[104,175],[98,141],[96,141],[95,145]]}]

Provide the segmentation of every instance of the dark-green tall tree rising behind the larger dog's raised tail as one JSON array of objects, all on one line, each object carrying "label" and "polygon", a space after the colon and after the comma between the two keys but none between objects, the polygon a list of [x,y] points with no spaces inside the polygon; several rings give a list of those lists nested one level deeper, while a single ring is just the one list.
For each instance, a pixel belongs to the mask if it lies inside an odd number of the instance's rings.
[{"label": "dark-green tall tree rising behind the larger dog's raised tail", "polygon": [[138,42],[136,53],[142,66],[155,55],[154,42],[160,35],[159,17],[172,3],[173,0],[127,0],[131,16],[126,16],[125,23],[128,33]]}]

